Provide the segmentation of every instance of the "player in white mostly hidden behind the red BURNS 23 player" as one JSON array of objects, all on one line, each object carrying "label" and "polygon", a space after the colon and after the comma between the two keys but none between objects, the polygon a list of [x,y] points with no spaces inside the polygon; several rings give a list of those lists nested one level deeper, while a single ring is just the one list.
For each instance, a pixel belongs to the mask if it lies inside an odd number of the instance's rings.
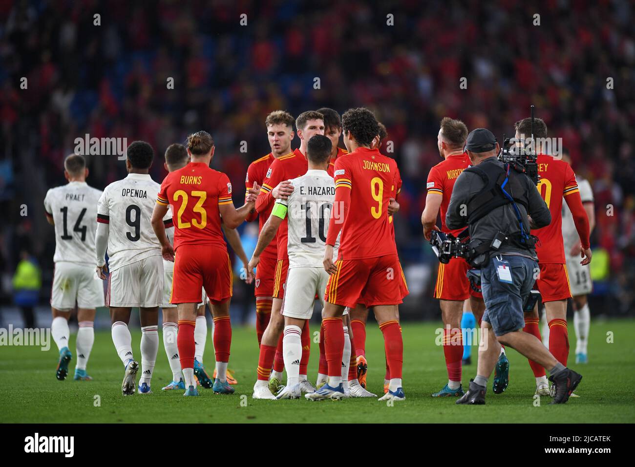
[{"label": "player in white mostly hidden behind the red BURNS 23 player", "polygon": [[[187,154],[187,149],[182,144],[171,144],[165,151],[165,163],[163,164],[165,170],[168,172],[174,172],[180,168],[185,167],[190,161],[190,156]],[[165,232],[168,236],[170,243],[174,243],[174,225],[170,220],[164,221],[166,227]],[[236,255],[243,261],[243,266],[247,269],[247,257],[243,250],[243,245],[240,240],[239,234],[235,229],[222,226],[225,236],[229,245],[236,253]],[[163,299],[161,304],[161,310],[163,311],[163,346],[165,353],[168,356],[168,363],[170,363],[170,369],[172,370],[172,381],[164,388],[163,391],[170,389],[184,389],[185,382],[183,381],[181,374],[181,363],[178,357],[177,346],[177,334],[178,334],[178,311],[177,306],[170,303],[172,295],[172,277],[174,274],[174,262],[163,260]],[[253,277],[248,274],[246,280],[247,283],[251,283]],[[194,327],[194,376],[198,380],[199,384],[204,388],[211,389],[214,382],[208,376],[203,366],[203,351],[205,349],[205,343],[207,341],[207,320],[205,318],[206,303],[209,303],[209,299],[205,294],[205,289],[201,290],[201,303],[198,304],[196,310],[196,325]],[[213,376],[215,377],[215,376]],[[236,379],[227,370],[227,381],[229,384],[236,384]]]}]

